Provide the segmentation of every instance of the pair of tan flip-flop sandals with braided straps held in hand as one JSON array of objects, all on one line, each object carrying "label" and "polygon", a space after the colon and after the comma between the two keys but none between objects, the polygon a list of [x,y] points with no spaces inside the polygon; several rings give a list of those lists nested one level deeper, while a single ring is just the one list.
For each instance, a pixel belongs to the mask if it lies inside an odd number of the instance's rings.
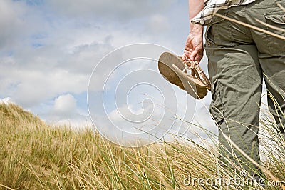
[{"label": "pair of tan flip-flop sandals with braided straps held in hand", "polygon": [[197,61],[164,52],[158,60],[158,69],[170,83],[187,91],[195,99],[202,99],[211,90],[211,83]]}]

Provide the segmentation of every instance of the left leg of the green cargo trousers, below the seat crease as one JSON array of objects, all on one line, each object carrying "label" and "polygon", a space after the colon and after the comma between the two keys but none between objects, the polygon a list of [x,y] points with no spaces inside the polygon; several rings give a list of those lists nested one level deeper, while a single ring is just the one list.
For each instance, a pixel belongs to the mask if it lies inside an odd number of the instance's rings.
[{"label": "left leg of the green cargo trousers, below the seat crease", "polygon": [[[260,173],[244,154],[259,159],[259,106],[262,75],[255,46],[206,48],[212,81],[210,112],[219,126],[222,164]],[[227,141],[227,136],[231,141]],[[232,142],[239,146],[240,153]]]}]

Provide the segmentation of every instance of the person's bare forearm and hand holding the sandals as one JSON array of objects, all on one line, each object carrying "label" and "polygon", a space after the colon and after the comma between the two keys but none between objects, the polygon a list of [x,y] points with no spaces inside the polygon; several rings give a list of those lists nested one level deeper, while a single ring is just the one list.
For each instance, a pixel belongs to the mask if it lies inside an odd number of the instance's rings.
[{"label": "person's bare forearm and hand holding the sandals", "polygon": [[193,19],[204,8],[204,0],[188,0],[190,32],[187,36],[183,58],[191,61],[201,61],[203,57],[203,26],[191,23]]}]

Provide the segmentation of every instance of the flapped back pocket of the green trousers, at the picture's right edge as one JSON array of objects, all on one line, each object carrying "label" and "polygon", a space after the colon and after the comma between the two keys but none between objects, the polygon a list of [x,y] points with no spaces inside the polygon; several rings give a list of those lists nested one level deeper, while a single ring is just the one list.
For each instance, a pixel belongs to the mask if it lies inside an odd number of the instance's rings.
[{"label": "flapped back pocket of the green trousers, at the picture's right edge", "polygon": [[[285,13],[284,11],[271,12],[264,14],[266,23],[274,26],[275,28],[281,29],[271,29],[267,26],[266,30],[273,32],[274,34],[279,34],[280,36],[285,36]],[[268,46],[269,51],[274,56],[285,56],[285,43],[284,39],[271,36],[268,34]]]}]

